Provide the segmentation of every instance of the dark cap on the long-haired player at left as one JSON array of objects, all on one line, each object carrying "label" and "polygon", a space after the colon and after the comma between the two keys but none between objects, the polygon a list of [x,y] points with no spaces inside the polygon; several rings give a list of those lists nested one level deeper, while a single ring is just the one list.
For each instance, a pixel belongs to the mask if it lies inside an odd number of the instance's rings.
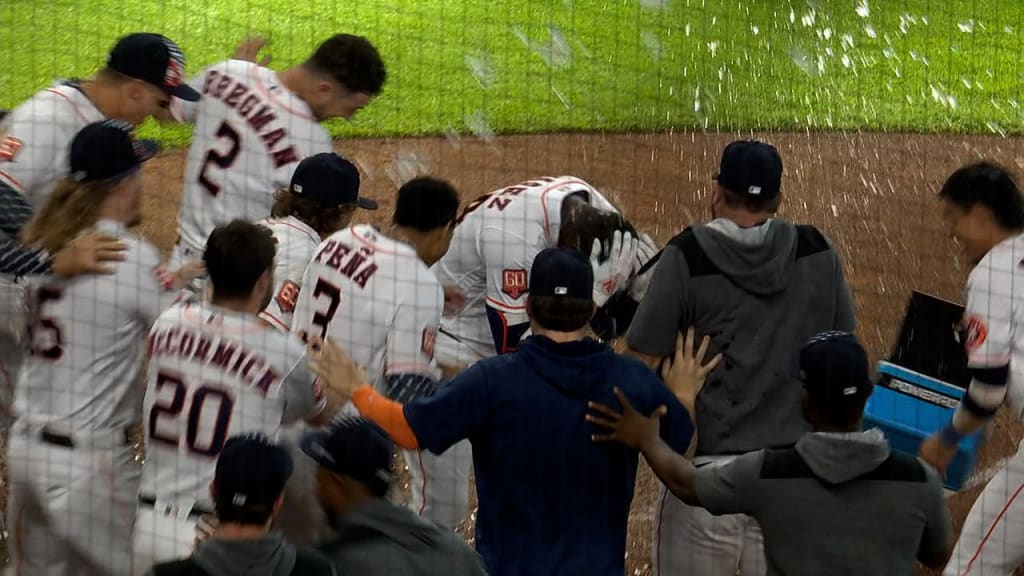
[{"label": "dark cap on the long-haired player at left", "polygon": [[80,182],[116,179],[134,172],[157,153],[157,142],[136,140],[121,120],[93,122],[71,141],[71,177]]}]

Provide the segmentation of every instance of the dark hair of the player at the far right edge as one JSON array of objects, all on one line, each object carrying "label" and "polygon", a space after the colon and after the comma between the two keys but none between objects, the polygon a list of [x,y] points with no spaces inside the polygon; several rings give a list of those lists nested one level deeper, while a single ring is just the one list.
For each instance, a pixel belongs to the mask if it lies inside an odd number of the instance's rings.
[{"label": "dark hair of the player at the far right edge", "polygon": [[946,178],[939,198],[970,210],[981,204],[1004,229],[1024,229],[1024,197],[1010,171],[994,162],[968,164]]}]

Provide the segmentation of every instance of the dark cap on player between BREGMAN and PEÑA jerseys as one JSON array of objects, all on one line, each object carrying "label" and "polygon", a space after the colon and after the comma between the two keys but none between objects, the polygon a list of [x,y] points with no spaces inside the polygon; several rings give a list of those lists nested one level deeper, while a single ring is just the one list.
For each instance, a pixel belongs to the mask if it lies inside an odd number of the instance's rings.
[{"label": "dark cap on player between BREGMAN and PE\u00d1A jerseys", "polygon": [[359,197],[359,171],[333,152],[307,156],[296,166],[289,187],[292,194],[315,200],[326,206],[355,204],[376,210],[377,201]]}]

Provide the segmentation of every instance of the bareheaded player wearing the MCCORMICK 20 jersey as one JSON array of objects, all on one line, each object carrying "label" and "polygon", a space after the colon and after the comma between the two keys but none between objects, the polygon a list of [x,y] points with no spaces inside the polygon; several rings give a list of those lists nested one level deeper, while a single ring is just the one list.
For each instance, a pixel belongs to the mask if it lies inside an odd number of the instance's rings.
[{"label": "bareheaded player wearing the MCCORMICK 20 jersey", "polygon": [[180,302],[150,332],[143,403],[146,459],[138,492],[132,573],[188,554],[227,438],[305,418],[321,423],[337,402],[306,369],[302,342],[257,319],[273,286],[274,245],[262,227],[215,229],[203,258],[209,303]]}]

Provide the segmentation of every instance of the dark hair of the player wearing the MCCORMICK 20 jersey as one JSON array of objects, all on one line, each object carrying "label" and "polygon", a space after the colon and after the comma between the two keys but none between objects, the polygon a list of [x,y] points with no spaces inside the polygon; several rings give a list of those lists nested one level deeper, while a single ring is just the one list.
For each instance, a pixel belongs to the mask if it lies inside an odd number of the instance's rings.
[{"label": "dark hair of the player wearing the MCCORMICK 20 jersey", "polygon": [[246,297],[273,265],[276,247],[270,230],[245,220],[217,227],[206,241],[206,263],[213,297]]}]

